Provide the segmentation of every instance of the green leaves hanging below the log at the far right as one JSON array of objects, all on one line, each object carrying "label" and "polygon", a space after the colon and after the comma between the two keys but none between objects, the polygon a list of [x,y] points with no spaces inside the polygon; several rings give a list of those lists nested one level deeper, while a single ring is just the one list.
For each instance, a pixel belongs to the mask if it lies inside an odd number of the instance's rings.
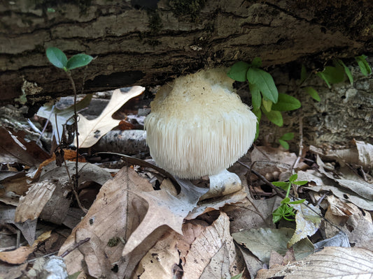
[{"label": "green leaves hanging below the log at the far right", "polygon": [[[358,62],[358,66],[360,71],[363,75],[368,76],[372,73],[372,68],[370,68],[369,63],[367,62],[367,56],[360,55],[356,56],[355,60]],[[332,61],[333,66],[325,66],[323,71],[316,73],[318,77],[320,77],[329,88],[331,88],[331,84],[337,84],[339,82],[344,82],[345,78],[349,78],[349,82],[353,84],[353,76],[349,67],[341,59],[333,59]],[[306,68],[302,65],[302,70],[300,73],[300,83],[302,84],[304,80],[307,79],[312,73],[307,73]],[[320,102],[321,98],[318,95],[318,92],[310,87],[306,86],[302,88],[309,96],[314,98],[314,100]]]}]

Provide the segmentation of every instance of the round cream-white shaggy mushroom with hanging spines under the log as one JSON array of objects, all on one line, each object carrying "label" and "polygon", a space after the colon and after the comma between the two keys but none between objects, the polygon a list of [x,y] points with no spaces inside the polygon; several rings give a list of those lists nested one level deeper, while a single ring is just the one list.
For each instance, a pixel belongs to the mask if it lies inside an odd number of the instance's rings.
[{"label": "round cream-white shaggy mushroom with hanging spines under the log", "polygon": [[146,141],[155,163],[181,179],[214,175],[253,144],[257,118],[224,70],[200,70],[165,84],[150,103]]}]

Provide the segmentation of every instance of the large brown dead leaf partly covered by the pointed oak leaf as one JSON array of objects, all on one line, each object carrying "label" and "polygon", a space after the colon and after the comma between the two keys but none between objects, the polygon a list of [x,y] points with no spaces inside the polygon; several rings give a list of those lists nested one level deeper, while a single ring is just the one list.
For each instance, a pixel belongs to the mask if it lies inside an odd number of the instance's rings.
[{"label": "large brown dead leaf partly covered by the pointed oak leaf", "polygon": [[[120,238],[126,241],[143,217],[139,216],[134,206],[146,209],[146,204],[142,203],[141,199],[134,199],[136,195],[132,191],[136,189],[153,191],[146,179],[127,167],[122,168],[113,180],[107,181],[101,187],[87,215],[73,229],[59,250],[59,255],[62,255],[72,248],[74,243],[90,237],[90,241],[64,257],[69,274],[87,269],[91,276],[101,278],[122,279],[131,276],[136,264],[164,233],[158,230],[153,239],[147,239],[146,243],[134,252],[122,257],[124,244]],[[109,241],[115,241],[116,245],[108,246]],[[118,271],[114,272],[115,269]]]}]

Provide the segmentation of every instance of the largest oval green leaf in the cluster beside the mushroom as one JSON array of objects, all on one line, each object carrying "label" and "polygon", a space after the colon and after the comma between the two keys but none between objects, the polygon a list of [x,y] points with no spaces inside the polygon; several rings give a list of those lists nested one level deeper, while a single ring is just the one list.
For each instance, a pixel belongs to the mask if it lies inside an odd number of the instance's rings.
[{"label": "largest oval green leaf in the cluster beside the mushroom", "polygon": [[265,70],[249,68],[247,71],[247,79],[248,82],[258,85],[263,97],[267,100],[272,100],[273,103],[277,103],[279,91],[277,91],[272,75],[267,73]]}]

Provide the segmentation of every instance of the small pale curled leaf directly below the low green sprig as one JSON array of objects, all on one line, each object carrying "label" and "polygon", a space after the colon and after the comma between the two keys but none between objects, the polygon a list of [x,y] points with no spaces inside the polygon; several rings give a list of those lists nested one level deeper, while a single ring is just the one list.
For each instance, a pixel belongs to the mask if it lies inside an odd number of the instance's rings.
[{"label": "small pale curled leaf directly below the low green sprig", "polygon": [[288,248],[301,239],[314,235],[321,224],[321,217],[319,216],[321,211],[318,206],[316,207],[312,204],[309,204],[308,207],[305,204],[292,204],[292,206],[297,210],[295,214],[295,223],[297,227],[292,238],[288,242]]}]

